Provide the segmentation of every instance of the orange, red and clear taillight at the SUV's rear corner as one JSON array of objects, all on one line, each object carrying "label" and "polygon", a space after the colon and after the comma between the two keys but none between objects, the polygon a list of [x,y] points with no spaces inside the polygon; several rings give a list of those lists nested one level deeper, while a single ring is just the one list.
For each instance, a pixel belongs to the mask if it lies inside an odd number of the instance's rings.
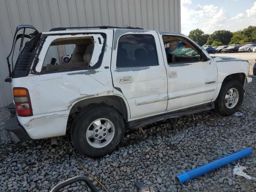
[{"label": "orange, red and clear taillight at the SUV's rear corner", "polygon": [[13,96],[17,115],[22,117],[32,116],[33,112],[28,90],[15,87],[13,88]]}]

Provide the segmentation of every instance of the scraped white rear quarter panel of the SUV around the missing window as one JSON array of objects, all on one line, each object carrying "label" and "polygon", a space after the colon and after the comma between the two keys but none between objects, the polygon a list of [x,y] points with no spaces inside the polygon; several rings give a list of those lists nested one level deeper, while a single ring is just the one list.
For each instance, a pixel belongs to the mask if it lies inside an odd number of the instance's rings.
[{"label": "scraped white rear quarter panel of the SUV around the missing window", "polygon": [[[18,116],[18,120],[31,138],[64,135],[68,115],[74,104],[86,98],[114,94],[110,72],[113,30],[104,32],[107,34],[106,48],[99,68],[30,74],[12,80],[13,87],[26,87],[30,94],[33,116]],[[65,35],[61,37],[64,38]],[[58,38],[58,35],[55,38]],[[98,39],[95,38],[95,40]],[[39,58],[45,57],[47,52],[45,50],[48,49],[50,41],[52,39],[44,43]],[[96,60],[97,58],[92,57],[92,62],[96,62]],[[42,62],[43,59],[40,59],[36,70],[41,70]],[[46,129],[45,125],[49,125],[49,128]],[[40,126],[42,126],[42,129],[44,128],[44,130],[40,130],[41,135],[36,133]]]}]

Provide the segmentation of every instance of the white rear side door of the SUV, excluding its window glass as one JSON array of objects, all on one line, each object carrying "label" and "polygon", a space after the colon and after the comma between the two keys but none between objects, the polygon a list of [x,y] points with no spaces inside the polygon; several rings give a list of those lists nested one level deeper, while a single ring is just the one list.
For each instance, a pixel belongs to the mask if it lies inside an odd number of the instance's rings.
[{"label": "white rear side door of the SUV, excluding its window glass", "polygon": [[[148,34],[154,36],[158,66],[117,67],[116,58],[120,36]],[[146,58],[145,58],[146,59]],[[122,90],[131,111],[130,120],[162,113],[167,107],[167,74],[161,46],[156,32],[148,30],[117,29],[111,64],[114,87]]]}]

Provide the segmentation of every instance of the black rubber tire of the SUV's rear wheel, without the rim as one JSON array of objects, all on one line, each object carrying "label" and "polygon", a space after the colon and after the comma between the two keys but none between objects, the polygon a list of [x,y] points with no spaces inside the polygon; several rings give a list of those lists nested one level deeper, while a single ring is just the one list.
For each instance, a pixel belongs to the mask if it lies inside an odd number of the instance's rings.
[{"label": "black rubber tire of the SUV's rear wheel, without the rim", "polygon": [[[112,122],[112,124],[114,125],[114,137],[112,138],[111,142],[106,146],[102,148],[96,148],[91,146],[91,144],[89,144],[90,141],[88,142],[88,140],[86,139],[86,131],[92,128],[90,126],[92,122],[100,118],[108,119]],[[120,144],[123,137],[124,120],[116,110],[110,108],[109,106],[90,106],[86,108],[83,112],[80,112],[72,123],[71,139],[76,150],[78,150],[78,152],[80,152],[81,154],[91,158],[98,158],[106,154],[112,153]]]}]

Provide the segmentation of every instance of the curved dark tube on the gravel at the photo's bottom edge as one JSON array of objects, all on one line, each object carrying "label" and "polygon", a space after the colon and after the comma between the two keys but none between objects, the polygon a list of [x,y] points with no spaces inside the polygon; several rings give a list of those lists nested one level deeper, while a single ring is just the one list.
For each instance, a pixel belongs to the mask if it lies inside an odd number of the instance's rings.
[{"label": "curved dark tube on the gravel at the photo's bottom edge", "polygon": [[76,181],[84,181],[88,185],[90,190],[92,190],[92,192],[98,192],[98,190],[95,188],[95,186],[92,184],[92,182],[86,176],[75,176],[75,177],[72,177],[65,181],[62,181],[59,184],[57,184],[54,188],[52,188],[52,190],[50,190],[50,192],[57,192],[61,188],[66,187]]}]

